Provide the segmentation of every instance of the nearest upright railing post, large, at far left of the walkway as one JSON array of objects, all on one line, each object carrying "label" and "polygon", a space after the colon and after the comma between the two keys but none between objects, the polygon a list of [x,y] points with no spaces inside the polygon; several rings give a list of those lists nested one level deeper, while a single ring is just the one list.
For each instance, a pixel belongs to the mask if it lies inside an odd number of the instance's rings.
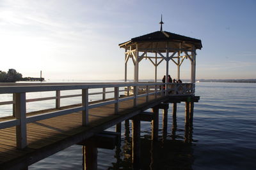
[{"label": "nearest upright railing post, large, at far left of the walkway", "polygon": [[27,146],[26,93],[15,94],[15,115],[19,120],[16,125],[17,148],[23,149]]}]

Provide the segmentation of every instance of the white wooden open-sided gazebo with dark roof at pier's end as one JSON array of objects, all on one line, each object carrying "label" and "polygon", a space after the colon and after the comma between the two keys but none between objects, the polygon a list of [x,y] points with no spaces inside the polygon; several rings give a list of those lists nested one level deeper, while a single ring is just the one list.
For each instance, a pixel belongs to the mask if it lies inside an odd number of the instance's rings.
[{"label": "white wooden open-sided gazebo with dark roof at pier's end", "polygon": [[177,79],[179,80],[180,66],[184,59],[189,59],[191,83],[195,87],[196,49],[201,50],[201,40],[163,31],[162,18],[159,24],[161,24],[160,31],[138,36],[119,44],[120,48],[125,49],[125,81],[127,81],[127,61],[129,59],[132,59],[134,64],[134,82],[139,81],[139,64],[142,59],[150,60],[155,66],[155,81],[157,81],[157,66],[165,60],[166,82],[169,74],[169,61],[172,60],[177,65]]}]

